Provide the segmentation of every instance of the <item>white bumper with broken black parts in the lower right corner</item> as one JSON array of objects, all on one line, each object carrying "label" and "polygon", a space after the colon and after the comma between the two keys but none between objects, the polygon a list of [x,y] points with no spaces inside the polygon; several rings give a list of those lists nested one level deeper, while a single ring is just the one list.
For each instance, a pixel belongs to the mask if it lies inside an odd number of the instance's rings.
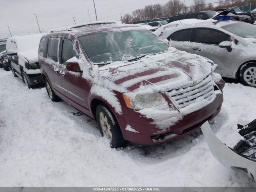
[{"label": "white bumper with broken black parts in the lower right corner", "polygon": [[201,129],[210,151],[218,161],[256,180],[256,120],[245,126],[238,124],[239,134],[244,139],[233,148],[226,146],[216,137],[208,122],[205,122]]}]

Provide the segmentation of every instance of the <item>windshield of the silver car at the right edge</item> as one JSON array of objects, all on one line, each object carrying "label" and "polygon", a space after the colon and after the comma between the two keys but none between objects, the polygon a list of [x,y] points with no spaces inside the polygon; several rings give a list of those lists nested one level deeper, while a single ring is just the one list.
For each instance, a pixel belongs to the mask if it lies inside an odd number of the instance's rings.
[{"label": "windshield of the silver car at the right edge", "polygon": [[251,24],[237,22],[222,28],[242,38],[256,38],[256,26]]}]

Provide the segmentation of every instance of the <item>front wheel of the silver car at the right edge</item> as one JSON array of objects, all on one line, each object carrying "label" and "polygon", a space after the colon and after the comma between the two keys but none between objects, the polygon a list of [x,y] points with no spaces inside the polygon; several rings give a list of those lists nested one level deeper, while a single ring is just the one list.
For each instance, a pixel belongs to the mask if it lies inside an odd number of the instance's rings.
[{"label": "front wheel of the silver car at the right edge", "polygon": [[246,86],[256,87],[256,63],[247,64],[241,70],[240,82]]}]

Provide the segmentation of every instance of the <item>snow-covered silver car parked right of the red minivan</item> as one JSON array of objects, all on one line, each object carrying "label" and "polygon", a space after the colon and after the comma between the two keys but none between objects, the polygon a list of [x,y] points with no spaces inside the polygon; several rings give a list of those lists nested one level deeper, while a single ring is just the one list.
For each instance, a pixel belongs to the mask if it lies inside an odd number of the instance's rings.
[{"label": "snow-covered silver car parked right of the red minivan", "polygon": [[218,64],[222,77],[256,87],[256,26],[237,21],[213,20],[171,28],[160,37],[188,53]]}]

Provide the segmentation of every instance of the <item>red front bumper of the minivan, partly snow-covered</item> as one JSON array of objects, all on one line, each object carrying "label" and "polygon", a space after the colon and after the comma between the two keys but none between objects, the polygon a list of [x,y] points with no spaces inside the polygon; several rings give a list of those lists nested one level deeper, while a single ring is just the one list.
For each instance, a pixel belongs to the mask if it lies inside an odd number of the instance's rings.
[{"label": "red front bumper of the minivan, partly snow-covered", "polygon": [[[126,140],[143,145],[159,144],[200,128],[204,122],[212,120],[220,112],[222,102],[223,95],[217,94],[212,103],[184,116],[182,120],[167,128],[165,132],[152,124],[152,119],[141,116],[140,113],[131,109],[128,109],[130,116],[124,115],[122,119],[118,120],[118,123]],[[137,132],[125,130],[127,125],[130,125]]]}]

